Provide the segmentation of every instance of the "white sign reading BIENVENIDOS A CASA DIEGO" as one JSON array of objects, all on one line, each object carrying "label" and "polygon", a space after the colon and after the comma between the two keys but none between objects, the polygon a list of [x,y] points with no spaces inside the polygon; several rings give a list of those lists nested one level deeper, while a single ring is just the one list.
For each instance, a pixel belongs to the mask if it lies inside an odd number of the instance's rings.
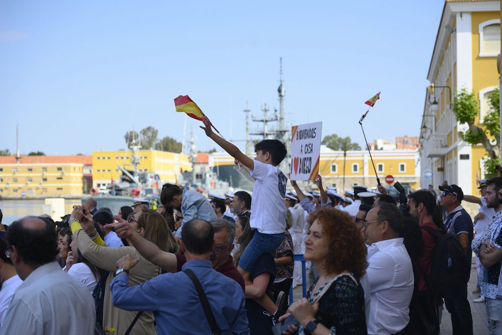
[{"label": "white sign reading BIENVENIDOS A CASA DIEGO", "polygon": [[322,122],[291,128],[291,180],[314,180],[319,173]]}]

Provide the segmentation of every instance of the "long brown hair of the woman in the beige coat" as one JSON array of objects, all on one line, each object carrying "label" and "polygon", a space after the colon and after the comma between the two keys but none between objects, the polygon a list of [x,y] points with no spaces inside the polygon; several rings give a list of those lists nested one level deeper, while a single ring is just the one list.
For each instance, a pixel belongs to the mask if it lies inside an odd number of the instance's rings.
[{"label": "long brown hair of the woman in the beige coat", "polygon": [[138,219],[138,227],[143,228],[143,237],[168,253],[177,253],[180,246],[168,229],[166,219],[155,210],[143,209]]}]

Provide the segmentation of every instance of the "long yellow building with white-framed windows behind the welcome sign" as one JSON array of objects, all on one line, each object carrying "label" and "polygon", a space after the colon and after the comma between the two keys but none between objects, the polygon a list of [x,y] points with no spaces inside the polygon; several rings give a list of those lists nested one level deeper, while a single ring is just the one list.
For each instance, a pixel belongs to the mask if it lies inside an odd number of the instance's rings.
[{"label": "long yellow building with white-framed windows behind the welcome sign", "polygon": [[[420,188],[418,150],[375,150],[371,152],[371,155],[380,182],[384,186],[390,186],[385,182],[385,177],[391,175],[403,185],[408,185],[413,189]],[[226,153],[209,155],[209,167],[233,165],[233,162],[234,159]],[[343,189],[343,151],[334,151],[322,145],[319,173],[324,186],[336,186],[341,191]],[[289,174],[289,172],[286,173],[286,175]],[[377,185],[367,151],[347,151],[345,189],[351,189],[354,185],[365,185],[371,188]]]}]

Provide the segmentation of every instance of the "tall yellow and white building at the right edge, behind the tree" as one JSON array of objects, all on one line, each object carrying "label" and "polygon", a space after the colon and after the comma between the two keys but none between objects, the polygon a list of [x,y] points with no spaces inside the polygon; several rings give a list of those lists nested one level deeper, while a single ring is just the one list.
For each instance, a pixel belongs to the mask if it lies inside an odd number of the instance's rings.
[{"label": "tall yellow and white building at the right edge, behind the tree", "polygon": [[473,91],[482,122],[488,96],[498,87],[498,53],[500,2],[447,0],[427,74],[436,88],[433,93],[426,91],[422,117],[422,187],[446,180],[459,185],[464,194],[477,194],[476,181],[484,177],[487,153],[481,145],[471,146],[459,137],[466,126],[456,120],[450,94],[462,88]]}]

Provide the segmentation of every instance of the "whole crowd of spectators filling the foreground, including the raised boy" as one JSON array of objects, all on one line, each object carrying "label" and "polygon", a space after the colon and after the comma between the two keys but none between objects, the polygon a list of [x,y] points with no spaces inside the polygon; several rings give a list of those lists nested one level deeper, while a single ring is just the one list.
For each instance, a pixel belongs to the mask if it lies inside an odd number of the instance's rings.
[{"label": "whole crowd of spectators filling the foreground, including the raised boy", "polygon": [[[381,186],[339,194],[320,175],[307,192],[278,168],[281,142],[250,159],[204,124],[256,180],[253,195],[164,184],[157,210],[115,214],[89,198],[62,221],[12,222],[0,232],[0,334],[438,334],[443,304],[453,333],[472,334],[472,251],[490,331],[502,332],[501,177],[482,181],[481,198],[444,184],[439,201],[432,188],[398,204]],[[464,199],[493,208],[475,238]],[[291,302],[296,254],[310,287]]]}]

